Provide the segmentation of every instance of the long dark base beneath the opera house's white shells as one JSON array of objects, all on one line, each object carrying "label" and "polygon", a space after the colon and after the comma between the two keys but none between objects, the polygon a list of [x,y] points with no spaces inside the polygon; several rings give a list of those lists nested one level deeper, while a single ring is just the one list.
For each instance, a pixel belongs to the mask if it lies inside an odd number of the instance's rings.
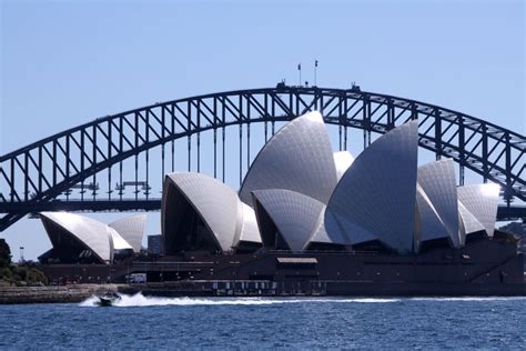
[{"label": "long dark base beneath the opera house's white shells", "polygon": [[526,295],[524,254],[509,237],[478,238],[461,249],[436,244],[417,255],[381,251],[260,249],[194,251],[114,264],[42,264],[49,282],[120,283],[150,295]]}]

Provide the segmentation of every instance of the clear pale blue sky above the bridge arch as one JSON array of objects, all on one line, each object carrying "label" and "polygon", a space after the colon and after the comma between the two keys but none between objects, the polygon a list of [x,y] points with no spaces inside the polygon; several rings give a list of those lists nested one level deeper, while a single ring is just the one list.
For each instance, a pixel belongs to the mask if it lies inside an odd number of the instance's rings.
[{"label": "clear pale blue sky above the bridge arch", "polygon": [[[525,16],[519,0],[1,1],[0,154],[156,101],[296,83],[299,62],[312,81],[315,59],[318,86],[357,81],[524,134]],[[14,259],[49,247],[37,220],[0,237]]]}]

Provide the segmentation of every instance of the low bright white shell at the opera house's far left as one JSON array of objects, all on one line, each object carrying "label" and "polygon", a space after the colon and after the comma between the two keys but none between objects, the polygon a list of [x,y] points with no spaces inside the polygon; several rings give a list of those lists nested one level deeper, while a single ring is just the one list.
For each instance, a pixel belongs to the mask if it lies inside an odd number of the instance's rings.
[{"label": "low bright white shell at the opera house's far left", "polygon": [[100,260],[104,262],[111,261],[113,257],[111,232],[107,224],[88,217],[67,212],[41,212],[40,215],[42,221],[48,220],[63,228],[90,249]]}]

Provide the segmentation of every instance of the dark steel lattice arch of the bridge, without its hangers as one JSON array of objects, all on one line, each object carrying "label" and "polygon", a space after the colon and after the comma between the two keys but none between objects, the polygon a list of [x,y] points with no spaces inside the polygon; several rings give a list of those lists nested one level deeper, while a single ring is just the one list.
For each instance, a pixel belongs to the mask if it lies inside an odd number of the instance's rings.
[{"label": "dark steel lattice arch of the bridge, without its hangers", "polygon": [[[79,201],[53,200],[72,187],[87,189],[84,180],[120,162],[122,164],[133,156],[148,154],[148,150],[159,146],[162,147],[164,172],[164,146],[171,142],[173,152],[173,141],[180,138],[189,138],[190,164],[193,134],[198,138],[199,171],[199,136],[208,130],[213,130],[214,134],[215,177],[215,143],[218,139],[223,142],[224,181],[225,127],[247,124],[250,138],[250,124],[264,122],[266,140],[269,123],[273,133],[276,121],[289,121],[308,110],[320,110],[327,123],[340,126],[340,149],[346,149],[347,127],[363,130],[365,147],[371,143],[372,132],[385,133],[407,120],[418,119],[419,147],[433,151],[437,159],[454,159],[459,164],[461,183],[464,168],[467,168],[484,180],[499,183],[508,204],[513,198],[526,201],[524,136],[482,119],[411,99],[358,89],[279,84],[276,88],[191,97],[98,118],[0,157],[0,213],[3,213],[0,231],[33,211],[97,207],[105,210],[155,209],[159,199],[149,201],[148,195],[146,201],[135,195],[135,202],[85,201],[85,205]],[[136,168],[135,158],[135,180]],[[109,174],[111,183],[111,172]]]}]

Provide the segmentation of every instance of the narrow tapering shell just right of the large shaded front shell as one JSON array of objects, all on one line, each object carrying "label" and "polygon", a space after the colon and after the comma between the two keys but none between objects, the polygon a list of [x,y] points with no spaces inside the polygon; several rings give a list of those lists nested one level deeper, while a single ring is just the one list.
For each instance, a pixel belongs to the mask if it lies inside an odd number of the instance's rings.
[{"label": "narrow tapering shell just right of the large shaded front shell", "polygon": [[[449,234],[451,242],[455,248],[459,248],[458,205],[453,160],[444,159],[421,166],[418,168],[418,184],[433,203],[433,208]],[[421,224],[425,227],[427,223],[422,222]],[[425,239],[422,238],[422,240]]]}]

